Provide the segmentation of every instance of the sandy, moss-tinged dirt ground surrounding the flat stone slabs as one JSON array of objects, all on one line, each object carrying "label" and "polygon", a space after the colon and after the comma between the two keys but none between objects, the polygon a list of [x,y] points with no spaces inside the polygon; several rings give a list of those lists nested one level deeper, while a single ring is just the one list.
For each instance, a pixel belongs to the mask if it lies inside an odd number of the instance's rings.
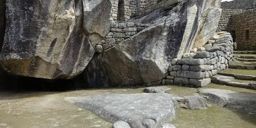
[{"label": "sandy, moss-tinged dirt ground surrounding the flat stone slabs", "polygon": [[[175,96],[196,94],[196,89],[167,86],[167,93]],[[247,93],[255,90],[229,86],[210,85],[209,88],[230,89]],[[64,101],[65,97],[98,95],[107,93],[142,93],[143,88],[87,89],[65,92],[4,92],[0,91],[0,128],[111,128],[109,123],[87,110]],[[256,114],[237,112],[215,105],[207,110],[178,110],[177,128],[253,128]]]}]

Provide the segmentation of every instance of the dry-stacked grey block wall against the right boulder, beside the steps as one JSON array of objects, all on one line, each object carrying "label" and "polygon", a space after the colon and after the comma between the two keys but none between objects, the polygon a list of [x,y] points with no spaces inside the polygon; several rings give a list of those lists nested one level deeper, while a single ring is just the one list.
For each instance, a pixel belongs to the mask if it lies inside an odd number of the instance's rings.
[{"label": "dry-stacked grey block wall against the right boulder, beside the steps", "polygon": [[216,33],[203,47],[173,59],[170,74],[162,84],[181,84],[203,87],[211,82],[211,76],[229,67],[233,57],[233,41],[230,33]]}]

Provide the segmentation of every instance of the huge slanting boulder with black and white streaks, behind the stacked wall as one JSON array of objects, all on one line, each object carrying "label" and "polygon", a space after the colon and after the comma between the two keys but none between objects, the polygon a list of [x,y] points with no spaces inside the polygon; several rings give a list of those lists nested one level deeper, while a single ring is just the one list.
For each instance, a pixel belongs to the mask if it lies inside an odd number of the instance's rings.
[{"label": "huge slanting boulder with black and white streaks, behind the stacked wall", "polygon": [[[181,58],[199,40],[208,41],[214,35],[221,15],[220,3],[221,0],[185,0],[172,10],[159,9],[131,19],[130,22],[151,25],[95,58],[102,61],[109,86],[159,84],[168,74],[172,59]],[[211,20],[212,16],[216,20]],[[100,75],[96,72],[90,82],[97,81],[93,79]]]}]

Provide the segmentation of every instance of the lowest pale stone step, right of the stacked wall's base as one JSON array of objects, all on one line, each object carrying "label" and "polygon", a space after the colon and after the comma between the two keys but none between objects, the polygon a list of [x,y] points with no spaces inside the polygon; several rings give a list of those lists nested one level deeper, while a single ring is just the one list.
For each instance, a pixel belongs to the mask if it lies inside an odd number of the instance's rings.
[{"label": "lowest pale stone step, right of the stacked wall's base", "polygon": [[232,76],[225,75],[215,75],[212,76],[211,82],[215,84],[222,84],[233,87],[241,87],[246,89],[256,89],[256,82],[254,81],[246,81],[246,80],[237,80]]}]

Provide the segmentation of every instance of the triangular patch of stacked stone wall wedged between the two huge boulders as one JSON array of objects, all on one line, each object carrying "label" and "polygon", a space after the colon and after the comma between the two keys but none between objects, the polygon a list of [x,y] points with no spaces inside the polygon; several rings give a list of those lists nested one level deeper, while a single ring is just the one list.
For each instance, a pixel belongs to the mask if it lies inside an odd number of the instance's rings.
[{"label": "triangular patch of stacked stone wall wedged between the two huge boulders", "polygon": [[[142,23],[111,23],[110,32],[108,35],[97,45],[97,52],[112,48],[113,46],[121,43],[125,39],[132,37],[138,32],[146,29],[149,24]],[[101,46],[99,46],[101,45]]]}]

